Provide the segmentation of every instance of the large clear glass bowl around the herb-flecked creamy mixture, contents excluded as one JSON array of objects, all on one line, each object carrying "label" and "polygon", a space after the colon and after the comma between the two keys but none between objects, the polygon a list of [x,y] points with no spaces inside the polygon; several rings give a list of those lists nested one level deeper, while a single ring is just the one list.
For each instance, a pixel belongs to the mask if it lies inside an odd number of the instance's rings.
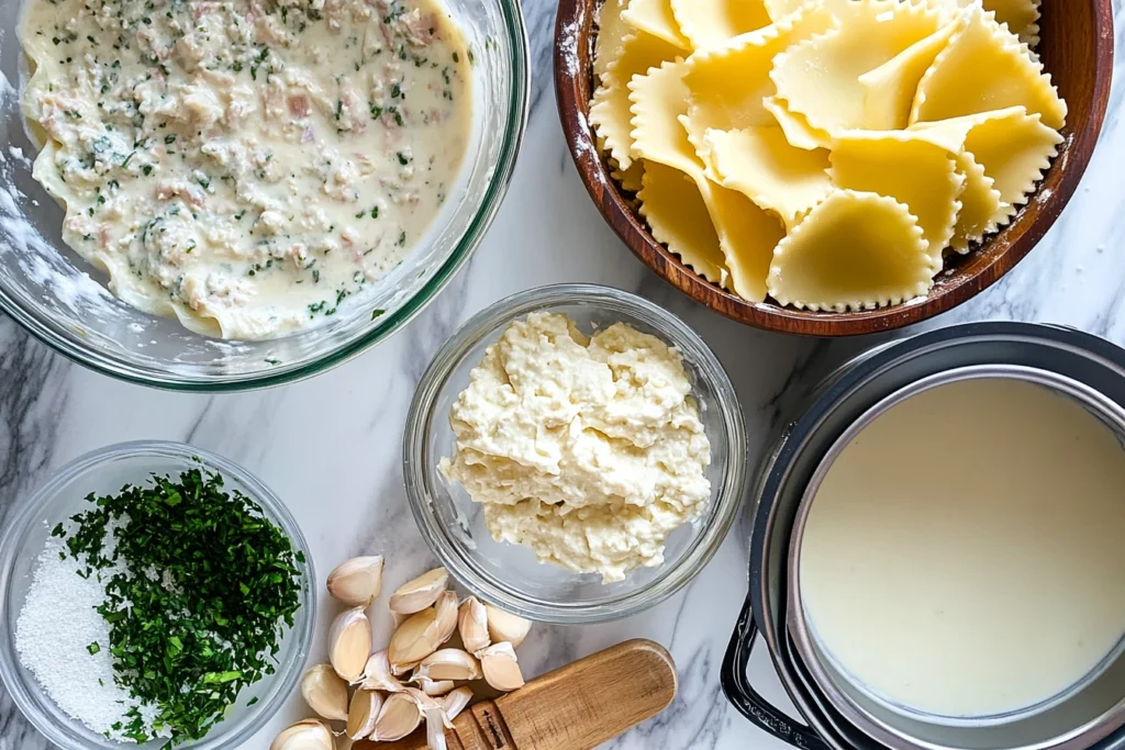
[{"label": "large clear glass bowl around the herb-flecked creamy mixture, contents excluded", "polygon": [[[474,129],[458,186],[413,253],[324,325],[270,341],[220,341],[110,295],[106,274],[63,243],[63,210],[32,179],[38,148],[20,112],[21,0],[0,0],[0,310],[106,374],[181,390],[236,390],[305,378],[400,328],[480,243],[515,166],[528,117],[526,31],[518,0],[446,0],[474,51]],[[382,310],[381,314],[377,314]]]}]

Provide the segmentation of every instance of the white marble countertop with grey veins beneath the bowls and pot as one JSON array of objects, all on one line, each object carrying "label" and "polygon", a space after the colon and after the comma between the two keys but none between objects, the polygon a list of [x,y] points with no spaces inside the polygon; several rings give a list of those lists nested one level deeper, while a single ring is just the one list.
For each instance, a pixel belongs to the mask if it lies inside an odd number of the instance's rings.
[{"label": "white marble countertop with grey veins beneath the bowls and pot", "polygon": [[[1063,0],[1048,0],[1061,2]],[[1015,271],[972,302],[929,325],[965,319],[1069,324],[1125,345],[1125,209],[1120,174],[1120,42],[1101,143],[1070,207]],[[320,575],[361,552],[387,555],[387,586],[422,571],[432,555],[402,487],[406,405],[430,358],[468,316],[515,291],[561,281],[595,281],[640,292],[681,315],[716,350],[738,388],[752,455],[791,404],[844,358],[875,338],[829,343],[762,333],[695,306],[644,268],[602,222],[566,148],[550,78],[555,7],[525,0],[533,103],[514,182],[471,263],[410,326],[378,349],[312,380],[232,395],[178,395],[89,372],[0,317],[0,522],[46,473],[87,451],[125,440],[169,439],[216,451],[258,473],[292,509]],[[719,688],[719,665],[746,591],[747,516],[706,570],[685,590],[632,618],[595,626],[537,626],[520,649],[525,675],[646,636],[673,653],[680,695],[652,721],[606,747],[614,750],[785,747],[754,729]],[[323,584],[323,580],[320,581]],[[320,613],[321,638],[333,614]],[[389,616],[377,622],[389,636]],[[322,658],[323,645],[317,651]],[[759,649],[755,684],[789,705]],[[243,747],[266,750],[304,717],[294,696]],[[0,750],[42,750],[46,741],[0,688]]]}]

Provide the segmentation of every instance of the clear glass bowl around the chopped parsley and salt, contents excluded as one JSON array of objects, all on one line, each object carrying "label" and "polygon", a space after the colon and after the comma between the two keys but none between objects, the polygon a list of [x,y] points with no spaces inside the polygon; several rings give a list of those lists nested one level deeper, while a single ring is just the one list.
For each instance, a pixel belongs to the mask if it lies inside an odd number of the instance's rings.
[{"label": "clear glass bowl around the chopped parsley and salt, contents excluded", "polygon": [[[16,623],[32,585],[37,559],[55,524],[88,508],[89,493],[116,493],[126,484],[140,485],[150,473],[177,475],[202,466],[223,476],[227,491],[238,490],[262,508],[277,524],[295,552],[305,554],[298,563],[302,576],[300,608],[294,626],[286,629],[276,659],[277,671],[263,677],[238,694],[226,719],[207,737],[177,746],[180,750],[222,750],[236,747],[268,722],[289,697],[300,679],[308,657],[316,622],[316,573],[308,544],[281,500],[262,482],[237,466],[214,453],[182,443],[140,441],[120,443],[88,453],[58,469],[35,495],[17,506],[0,542],[0,680],[24,715],[51,742],[63,750],[156,750],[163,741],[143,746],[107,740],[68,716],[43,690],[35,676],[24,667],[16,652]],[[58,616],[65,617],[68,603],[58,603]],[[256,703],[248,706],[251,698]]]}]

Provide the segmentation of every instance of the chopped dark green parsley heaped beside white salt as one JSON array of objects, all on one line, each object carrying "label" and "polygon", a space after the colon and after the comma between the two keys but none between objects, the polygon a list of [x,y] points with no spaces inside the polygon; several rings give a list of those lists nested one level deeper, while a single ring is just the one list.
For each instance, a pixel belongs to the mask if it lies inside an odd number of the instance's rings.
[{"label": "chopped dark green parsley heaped beside white salt", "polygon": [[87,577],[106,571],[98,613],[115,681],[156,711],[150,721],[133,707],[114,729],[136,742],[168,730],[163,748],[202,738],[243,688],[273,674],[300,606],[304,555],[258,504],[201,468],[86,499],[70,531],[52,534]]}]

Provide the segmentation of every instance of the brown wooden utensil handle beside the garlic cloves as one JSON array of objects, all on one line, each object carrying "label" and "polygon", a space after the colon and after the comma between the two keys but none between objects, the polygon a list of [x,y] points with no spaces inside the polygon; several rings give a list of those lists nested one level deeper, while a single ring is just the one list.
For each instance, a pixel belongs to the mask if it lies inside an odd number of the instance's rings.
[{"label": "brown wooden utensil handle beside the garlic cloves", "polygon": [[[461,712],[449,750],[588,750],[660,713],[676,697],[676,666],[652,641],[626,641],[495,701]],[[425,732],[353,750],[424,750]]]}]

